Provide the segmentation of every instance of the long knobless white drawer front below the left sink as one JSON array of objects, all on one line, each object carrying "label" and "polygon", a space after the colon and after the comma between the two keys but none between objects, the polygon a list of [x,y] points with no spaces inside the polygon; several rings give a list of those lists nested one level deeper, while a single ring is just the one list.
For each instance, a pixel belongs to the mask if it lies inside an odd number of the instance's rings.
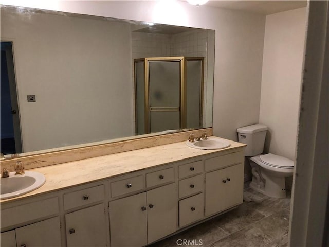
[{"label": "long knobless white drawer front below the left sink", "polygon": [[1,228],[58,214],[58,198],[53,197],[1,210]]}]

